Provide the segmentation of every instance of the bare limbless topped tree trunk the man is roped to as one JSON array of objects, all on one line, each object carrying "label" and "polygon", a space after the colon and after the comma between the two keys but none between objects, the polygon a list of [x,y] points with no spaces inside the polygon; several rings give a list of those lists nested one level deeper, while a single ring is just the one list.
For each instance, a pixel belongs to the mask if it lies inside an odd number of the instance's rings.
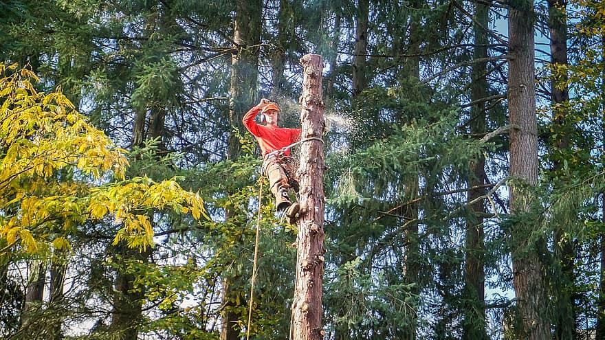
[{"label": "bare limbless topped tree trunk the man is roped to", "polygon": [[324,146],[321,140],[325,128],[322,98],[322,58],[307,54],[303,64],[303,94],[300,113],[304,139],[311,139],[300,148],[300,218],[296,286],[292,304],[292,339],[322,339],[322,286],[324,273],[324,208],[323,188]]}]

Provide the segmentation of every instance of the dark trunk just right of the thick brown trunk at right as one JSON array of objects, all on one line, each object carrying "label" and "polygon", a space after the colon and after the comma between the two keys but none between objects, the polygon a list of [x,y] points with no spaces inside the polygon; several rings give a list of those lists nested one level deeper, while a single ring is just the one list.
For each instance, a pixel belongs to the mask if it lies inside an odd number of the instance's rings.
[{"label": "dark trunk just right of the thick brown trunk at right", "polygon": [[[567,65],[567,23],[565,15],[565,1],[549,0],[549,32],[551,35],[551,63],[553,65]],[[558,139],[551,147],[554,150],[569,148],[569,137],[566,135],[566,109],[563,105],[569,102],[569,90],[565,84],[566,76],[551,80],[551,102],[553,111],[553,124]],[[563,87],[561,85],[563,84]],[[554,172],[562,171],[561,159],[554,159]],[[563,176],[561,178],[564,178]],[[564,231],[555,228],[554,252],[555,260],[560,263],[560,275],[554,275],[555,291],[553,292],[557,304],[555,317],[556,339],[575,339],[575,315],[573,302],[573,244],[569,238],[563,237]]]}]

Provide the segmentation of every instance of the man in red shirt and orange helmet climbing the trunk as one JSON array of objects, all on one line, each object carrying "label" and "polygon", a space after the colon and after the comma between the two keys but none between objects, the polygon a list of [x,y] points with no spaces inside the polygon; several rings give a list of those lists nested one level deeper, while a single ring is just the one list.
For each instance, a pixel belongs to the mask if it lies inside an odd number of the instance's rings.
[{"label": "man in red shirt and orange helmet climbing the trunk", "polygon": [[[292,204],[288,197],[288,190],[292,188],[298,192],[298,179],[294,159],[290,157],[290,150],[284,147],[294,144],[300,139],[300,128],[281,128],[278,126],[278,117],[281,109],[276,103],[263,98],[259,104],[252,107],[243,116],[243,125],[256,137],[263,154],[263,172],[269,179],[271,192],[275,196],[275,206],[278,212],[286,212],[289,223],[294,224],[296,213],[300,209],[298,203]],[[254,118],[261,113],[265,125],[256,124]]]}]

